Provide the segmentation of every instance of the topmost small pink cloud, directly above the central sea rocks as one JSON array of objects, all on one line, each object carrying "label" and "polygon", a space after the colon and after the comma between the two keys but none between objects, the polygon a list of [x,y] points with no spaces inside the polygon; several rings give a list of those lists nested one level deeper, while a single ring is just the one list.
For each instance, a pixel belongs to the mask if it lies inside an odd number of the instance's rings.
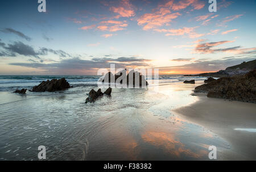
[{"label": "topmost small pink cloud, directly above the central sea rocks", "polygon": [[119,6],[112,6],[109,8],[109,10],[118,14],[117,16],[115,16],[115,18],[130,18],[135,16],[135,11],[129,0],[122,0],[119,3]]}]

